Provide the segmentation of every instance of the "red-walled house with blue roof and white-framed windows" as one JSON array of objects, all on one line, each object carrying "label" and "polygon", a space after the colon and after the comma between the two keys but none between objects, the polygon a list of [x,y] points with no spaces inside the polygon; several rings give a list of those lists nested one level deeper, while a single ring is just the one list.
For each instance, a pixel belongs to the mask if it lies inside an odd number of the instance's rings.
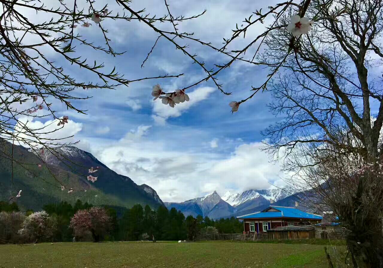
[{"label": "red-walled house with blue roof and white-framed windows", "polygon": [[266,232],[274,227],[317,224],[322,216],[301,211],[293,207],[270,206],[252,214],[238,216],[243,220],[244,230],[248,232]]}]

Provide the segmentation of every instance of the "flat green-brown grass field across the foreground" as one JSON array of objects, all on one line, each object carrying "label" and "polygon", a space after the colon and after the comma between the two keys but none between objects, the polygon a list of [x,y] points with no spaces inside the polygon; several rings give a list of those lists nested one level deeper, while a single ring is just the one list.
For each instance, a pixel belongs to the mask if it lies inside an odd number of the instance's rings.
[{"label": "flat green-brown grass field across the foreground", "polygon": [[327,268],[323,245],[105,242],[0,245],[1,268]]}]

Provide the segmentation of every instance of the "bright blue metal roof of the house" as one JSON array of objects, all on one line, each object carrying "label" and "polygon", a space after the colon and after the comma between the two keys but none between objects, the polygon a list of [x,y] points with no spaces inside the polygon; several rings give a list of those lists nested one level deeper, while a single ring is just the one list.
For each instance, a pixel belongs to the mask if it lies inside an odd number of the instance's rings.
[{"label": "bright blue metal roof of the house", "polygon": [[[267,211],[270,208],[277,209],[278,211]],[[322,219],[322,216],[304,212],[297,208],[278,207],[278,206],[270,206],[264,211],[259,211],[252,214],[238,216],[237,218],[238,219],[259,219],[259,218],[282,218],[282,217],[283,218],[299,218],[299,219],[315,219],[315,220]]]}]

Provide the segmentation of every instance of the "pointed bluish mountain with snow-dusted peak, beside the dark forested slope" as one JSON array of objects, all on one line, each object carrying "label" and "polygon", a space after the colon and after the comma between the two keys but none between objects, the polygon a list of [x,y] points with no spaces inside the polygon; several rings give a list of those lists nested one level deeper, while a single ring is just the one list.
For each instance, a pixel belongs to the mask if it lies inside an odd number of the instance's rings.
[{"label": "pointed bluish mountain with snow-dusted peak, beside the dark forested slope", "polygon": [[222,200],[216,191],[182,203],[165,202],[164,204],[169,209],[176,208],[182,211],[185,216],[191,215],[193,217],[201,215],[203,217],[208,216],[212,219],[219,219],[221,217],[229,217],[236,212],[236,209]]}]

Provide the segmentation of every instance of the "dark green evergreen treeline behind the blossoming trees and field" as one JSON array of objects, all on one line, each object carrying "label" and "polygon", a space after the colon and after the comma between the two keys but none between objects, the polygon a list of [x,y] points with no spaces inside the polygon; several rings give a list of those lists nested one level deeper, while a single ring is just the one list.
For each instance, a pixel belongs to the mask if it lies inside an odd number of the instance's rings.
[{"label": "dark green evergreen treeline behind the blossoming trees and field", "polygon": [[[74,234],[73,228],[70,228],[71,219],[77,212],[89,210],[92,207],[92,204],[82,203],[80,200],[74,205],[61,202],[44,206],[43,210],[53,219],[55,225],[52,237],[49,237],[48,240],[57,242],[72,241],[73,237],[77,237],[77,235]],[[109,241],[152,240],[153,238],[155,240],[193,240],[198,234],[232,234],[242,233],[243,231],[243,224],[235,217],[215,221],[209,217],[203,218],[200,215],[196,218],[193,216],[185,217],[181,211],[177,211],[175,208],[169,210],[164,206],[159,206],[157,209],[152,210],[148,205],[143,208],[141,204],[136,204],[130,209],[119,211],[119,213],[117,213],[116,208],[109,206],[105,206],[103,209],[109,216],[108,221],[110,224],[108,224],[107,230],[103,230],[100,237]],[[0,213],[3,213],[3,217],[6,216],[5,213],[11,214],[18,211],[19,208],[16,203],[0,202]],[[18,213],[20,214],[20,212]],[[26,211],[25,217],[31,214],[33,214],[33,211]],[[2,229],[1,218],[0,229]],[[8,218],[12,219],[13,217],[9,216]],[[15,226],[13,223],[10,224]],[[6,238],[9,239],[10,237],[8,234]],[[2,238],[1,230],[0,239],[7,240],[4,237]],[[80,238],[80,240],[82,239]]]}]

